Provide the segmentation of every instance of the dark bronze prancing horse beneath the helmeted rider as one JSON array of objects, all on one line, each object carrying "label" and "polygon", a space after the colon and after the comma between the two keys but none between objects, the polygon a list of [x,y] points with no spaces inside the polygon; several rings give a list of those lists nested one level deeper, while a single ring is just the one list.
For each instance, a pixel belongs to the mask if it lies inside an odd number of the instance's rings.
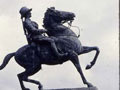
[{"label": "dark bronze prancing horse beneath the helmeted rider", "polygon": [[25,69],[24,72],[17,75],[22,90],[30,90],[24,86],[23,81],[37,84],[39,90],[41,90],[41,83],[39,81],[29,79],[28,77],[37,73],[41,69],[42,64],[57,65],[70,60],[79,72],[83,83],[88,87],[93,87],[93,85],[86,80],[82,72],[78,55],[85,54],[93,50],[96,51],[93,61],[86,66],[86,69],[90,69],[97,60],[99,48],[82,46],[77,35],[70,28],[63,25],[68,21],[73,21],[74,17],[74,13],[55,10],[55,8],[51,7],[46,10],[43,20],[43,26],[47,29],[48,36],[57,39],[55,43],[59,52],[67,52],[67,56],[62,58],[56,57],[47,43],[36,44],[35,46],[25,45],[16,52],[6,55],[2,65],[0,66],[0,70],[2,70],[14,56],[16,62]]}]

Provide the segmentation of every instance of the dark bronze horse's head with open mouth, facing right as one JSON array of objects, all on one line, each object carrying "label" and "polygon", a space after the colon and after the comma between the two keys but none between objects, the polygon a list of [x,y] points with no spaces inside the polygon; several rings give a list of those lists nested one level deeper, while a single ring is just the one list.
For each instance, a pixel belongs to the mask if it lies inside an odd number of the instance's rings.
[{"label": "dark bronze horse's head with open mouth, facing right", "polygon": [[[59,11],[54,7],[48,8],[44,16],[44,25],[50,25],[51,23],[65,23],[66,21],[74,20],[75,14],[72,12]],[[52,22],[51,22],[52,21]]]}]

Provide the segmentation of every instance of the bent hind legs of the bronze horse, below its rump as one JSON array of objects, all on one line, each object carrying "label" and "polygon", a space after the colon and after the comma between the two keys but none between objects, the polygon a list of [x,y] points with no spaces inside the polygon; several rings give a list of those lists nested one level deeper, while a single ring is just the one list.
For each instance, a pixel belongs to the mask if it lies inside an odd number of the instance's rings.
[{"label": "bent hind legs of the bronze horse, below its rump", "polygon": [[23,73],[20,73],[18,74],[18,78],[19,78],[19,81],[20,81],[20,85],[21,85],[21,88],[22,90],[30,90],[28,88],[25,88],[24,84],[23,84],[23,81],[26,81],[26,82],[31,82],[31,83],[34,83],[34,84],[37,84],[39,87],[39,90],[42,89],[42,85],[40,84],[40,82],[36,81],[36,80],[32,80],[32,79],[28,79],[29,76],[33,75],[35,72],[33,72],[32,69],[29,69],[29,70],[26,70],[25,72]]}]

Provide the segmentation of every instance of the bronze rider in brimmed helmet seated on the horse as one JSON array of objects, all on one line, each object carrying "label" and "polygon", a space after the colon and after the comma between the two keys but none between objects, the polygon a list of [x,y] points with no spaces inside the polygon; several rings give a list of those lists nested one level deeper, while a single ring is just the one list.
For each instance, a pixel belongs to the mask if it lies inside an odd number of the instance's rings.
[{"label": "bronze rider in brimmed helmet seated on the horse", "polygon": [[27,37],[28,43],[31,44],[32,42],[48,42],[50,43],[51,48],[57,57],[66,56],[67,53],[61,54],[58,52],[54,39],[42,35],[43,33],[47,33],[47,30],[38,29],[38,24],[34,21],[31,21],[31,11],[32,9],[28,9],[27,7],[22,7],[19,11],[22,21],[24,18],[23,27],[25,29],[25,35]]}]

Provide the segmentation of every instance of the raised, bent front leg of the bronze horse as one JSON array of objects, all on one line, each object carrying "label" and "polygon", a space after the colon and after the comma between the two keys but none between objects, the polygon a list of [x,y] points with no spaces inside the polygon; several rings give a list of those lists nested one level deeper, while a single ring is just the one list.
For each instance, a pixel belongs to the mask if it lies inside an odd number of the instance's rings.
[{"label": "raised, bent front leg of the bronze horse", "polygon": [[86,66],[86,69],[90,69],[96,63],[97,57],[100,53],[100,50],[98,47],[83,46],[83,51],[80,53],[80,54],[85,54],[85,53],[89,53],[89,52],[94,51],[94,50],[96,51],[95,57],[94,57],[93,61],[91,61],[90,64],[88,64]]}]

